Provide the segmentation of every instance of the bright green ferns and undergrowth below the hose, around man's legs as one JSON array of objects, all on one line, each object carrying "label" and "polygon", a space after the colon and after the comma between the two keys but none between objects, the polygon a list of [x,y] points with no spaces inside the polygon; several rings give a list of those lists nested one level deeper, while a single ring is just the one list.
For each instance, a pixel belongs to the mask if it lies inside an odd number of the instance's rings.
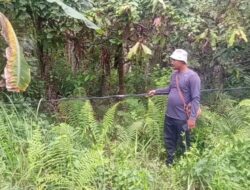
[{"label": "bright green ferns and undergrowth below the hose, around man's legs", "polygon": [[167,168],[160,99],[128,99],[99,121],[88,101],[62,102],[63,123],[1,104],[1,189],[247,189],[249,100],[205,108],[191,150]]}]

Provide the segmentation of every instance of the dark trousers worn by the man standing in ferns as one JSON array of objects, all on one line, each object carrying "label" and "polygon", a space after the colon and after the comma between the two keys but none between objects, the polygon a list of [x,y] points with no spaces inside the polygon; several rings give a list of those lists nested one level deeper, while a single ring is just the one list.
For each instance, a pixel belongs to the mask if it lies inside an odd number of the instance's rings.
[{"label": "dark trousers worn by the man standing in ferns", "polygon": [[190,131],[186,120],[166,116],[164,121],[164,142],[167,151],[166,164],[173,164],[177,147],[184,153],[190,147]]}]

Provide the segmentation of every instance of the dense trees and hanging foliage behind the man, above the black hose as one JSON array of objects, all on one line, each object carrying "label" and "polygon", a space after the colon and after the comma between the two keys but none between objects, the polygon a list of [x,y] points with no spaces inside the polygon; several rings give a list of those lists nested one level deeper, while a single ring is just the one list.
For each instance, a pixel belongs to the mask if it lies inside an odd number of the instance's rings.
[{"label": "dense trees and hanging foliage behind the man, above the black hose", "polygon": [[178,47],[204,88],[249,82],[248,0],[1,2],[32,66],[33,98],[144,92]]}]

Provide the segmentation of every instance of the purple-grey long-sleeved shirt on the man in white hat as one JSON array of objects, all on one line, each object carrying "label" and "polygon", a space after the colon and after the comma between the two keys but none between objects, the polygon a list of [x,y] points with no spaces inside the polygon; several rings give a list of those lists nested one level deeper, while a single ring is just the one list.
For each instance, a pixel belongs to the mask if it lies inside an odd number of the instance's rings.
[{"label": "purple-grey long-sleeved shirt on the man in white hat", "polygon": [[[191,115],[189,118],[187,118],[183,101],[178,93],[176,75],[179,79],[179,87],[184,96],[185,103],[191,103]],[[166,88],[156,89],[156,94],[168,94],[166,111],[168,117],[179,120],[195,120],[200,106],[200,86],[200,77],[193,70],[188,69],[186,72],[176,71],[171,76],[170,85]]]}]

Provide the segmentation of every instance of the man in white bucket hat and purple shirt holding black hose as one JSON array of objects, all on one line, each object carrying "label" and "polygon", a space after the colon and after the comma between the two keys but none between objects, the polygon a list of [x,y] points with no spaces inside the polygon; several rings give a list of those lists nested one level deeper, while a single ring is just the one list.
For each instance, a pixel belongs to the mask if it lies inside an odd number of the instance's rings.
[{"label": "man in white bucket hat and purple shirt holding black hose", "polygon": [[[196,72],[188,68],[188,53],[183,49],[176,49],[171,58],[171,65],[176,70],[167,88],[151,90],[149,96],[168,94],[167,111],[164,122],[164,142],[167,151],[166,164],[173,164],[177,145],[182,136],[186,136],[186,147],[190,146],[190,129],[195,127],[200,104],[200,78]],[[191,113],[184,110],[185,104],[191,105]]]}]

